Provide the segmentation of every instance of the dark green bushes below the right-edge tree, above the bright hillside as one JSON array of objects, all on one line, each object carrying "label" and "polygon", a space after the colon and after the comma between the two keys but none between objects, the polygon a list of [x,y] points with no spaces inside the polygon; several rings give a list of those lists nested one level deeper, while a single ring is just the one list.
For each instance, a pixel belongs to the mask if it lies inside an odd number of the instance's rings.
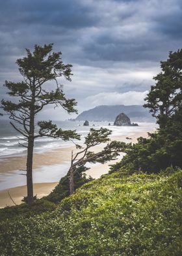
[{"label": "dark green bushes below the right-edge tree, above the bright hillside", "polygon": [[151,133],[149,138],[138,138],[120,163],[112,166],[110,172],[125,167],[129,173],[142,170],[157,173],[166,167],[182,168],[182,110],[168,118],[166,127]]}]

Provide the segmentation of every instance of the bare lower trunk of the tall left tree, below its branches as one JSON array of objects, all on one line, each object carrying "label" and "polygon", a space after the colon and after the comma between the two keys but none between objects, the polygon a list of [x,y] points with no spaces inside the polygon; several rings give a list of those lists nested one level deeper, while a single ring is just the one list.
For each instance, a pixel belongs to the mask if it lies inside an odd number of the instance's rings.
[{"label": "bare lower trunk of the tall left tree, below its branches", "polygon": [[33,183],[32,183],[32,160],[33,160],[34,138],[29,138],[27,149],[27,200],[28,205],[33,203]]}]

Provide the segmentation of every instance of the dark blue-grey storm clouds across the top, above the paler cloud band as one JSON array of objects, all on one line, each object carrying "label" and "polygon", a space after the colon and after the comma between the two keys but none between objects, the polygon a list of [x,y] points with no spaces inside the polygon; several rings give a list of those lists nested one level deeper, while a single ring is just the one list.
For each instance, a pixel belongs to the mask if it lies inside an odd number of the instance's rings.
[{"label": "dark blue-grey storm clouds across the top, above the paler cloud band", "polygon": [[179,45],[181,13],[177,0],[2,1],[1,56],[18,56],[36,42],[55,42],[80,63],[85,58],[159,61]]}]

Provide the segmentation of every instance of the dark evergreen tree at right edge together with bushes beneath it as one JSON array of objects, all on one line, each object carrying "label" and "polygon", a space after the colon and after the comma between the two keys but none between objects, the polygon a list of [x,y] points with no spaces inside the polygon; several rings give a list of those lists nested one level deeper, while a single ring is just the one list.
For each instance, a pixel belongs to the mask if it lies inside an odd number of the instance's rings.
[{"label": "dark evergreen tree at right edge together with bushes beneath it", "polygon": [[161,61],[161,69],[144,104],[157,118],[159,129],[149,138],[138,138],[138,143],[127,150],[127,155],[110,172],[120,167],[129,172],[182,167],[182,49],[170,52],[169,58]]}]

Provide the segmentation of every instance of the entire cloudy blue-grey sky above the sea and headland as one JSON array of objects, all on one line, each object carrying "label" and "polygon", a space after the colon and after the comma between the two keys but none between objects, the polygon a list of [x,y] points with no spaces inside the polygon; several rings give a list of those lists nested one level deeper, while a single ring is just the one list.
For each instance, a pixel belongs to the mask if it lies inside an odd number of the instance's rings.
[{"label": "entire cloudy blue-grey sky above the sea and headland", "polygon": [[[18,82],[25,48],[53,43],[72,82],[61,80],[79,113],[99,104],[143,104],[160,61],[182,46],[181,0],[6,0],[0,3],[0,93]],[[47,108],[42,117],[73,118]]]}]

